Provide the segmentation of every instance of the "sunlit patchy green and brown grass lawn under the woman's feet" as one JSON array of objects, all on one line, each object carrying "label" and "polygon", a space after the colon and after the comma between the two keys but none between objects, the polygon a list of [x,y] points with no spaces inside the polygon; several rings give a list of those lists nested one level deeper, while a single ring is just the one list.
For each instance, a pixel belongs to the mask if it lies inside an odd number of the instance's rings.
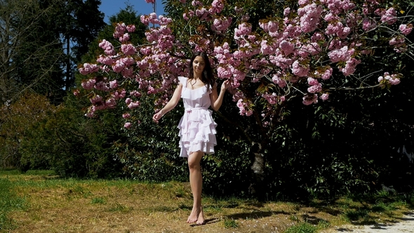
[{"label": "sunlit patchy green and brown grass lawn under the woman's feet", "polygon": [[61,179],[51,171],[0,171],[0,232],[334,232],[393,222],[414,194],[378,192],[335,201],[260,202],[203,197],[207,224],[185,221],[188,182]]}]

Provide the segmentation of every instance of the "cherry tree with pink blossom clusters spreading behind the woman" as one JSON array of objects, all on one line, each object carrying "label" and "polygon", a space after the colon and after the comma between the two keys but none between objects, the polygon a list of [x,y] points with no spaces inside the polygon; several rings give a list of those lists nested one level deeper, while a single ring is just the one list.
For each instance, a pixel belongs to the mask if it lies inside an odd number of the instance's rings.
[{"label": "cherry tree with pink blossom clusters spreading behind the woman", "polygon": [[[375,67],[372,58],[378,51],[391,48],[387,53],[414,60],[408,37],[413,29],[413,6],[408,4],[283,1],[262,19],[249,14],[253,1],[173,0],[167,4],[175,15],[182,15],[174,19],[156,13],[142,15],[141,21],[149,27],[143,44],[131,44],[135,26],[120,22],[114,32],[119,44],[101,41],[102,54],[96,62],[79,68],[85,76],[84,90],[74,94],[90,98],[86,116],[126,106],[132,111],[123,114],[125,128],[131,128],[138,124],[133,111],[139,111],[141,98],[156,95],[155,109],[161,109],[178,84],[177,76],[187,74],[191,54],[206,51],[218,81],[232,82],[229,92],[239,114],[254,117],[261,132],[260,138],[252,139],[241,130],[258,146],[252,161],[258,174],[264,170],[269,135],[283,120],[283,109],[289,103],[320,105],[335,91],[399,84],[403,68]],[[367,61],[373,69],[359,70]]]}]

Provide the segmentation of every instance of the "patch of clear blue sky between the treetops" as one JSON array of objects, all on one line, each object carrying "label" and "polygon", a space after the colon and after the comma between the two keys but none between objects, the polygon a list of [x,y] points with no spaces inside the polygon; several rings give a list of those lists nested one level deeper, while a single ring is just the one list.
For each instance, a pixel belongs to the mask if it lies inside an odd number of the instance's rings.
[{"label": "patch of clear blue sky between the treetops", "polygon": [[[152,4],[147,4],[145,0],[101,0],[99,10],[105,13],[105,22],[109,22],[109,16],[119,13],[121,9],[126,7],[126,3],[129,3],[138,15],[148,15],[152,13]],[[163,11],[163,5],[161,0],[156,0],[156,15],[165,14]]]}]

